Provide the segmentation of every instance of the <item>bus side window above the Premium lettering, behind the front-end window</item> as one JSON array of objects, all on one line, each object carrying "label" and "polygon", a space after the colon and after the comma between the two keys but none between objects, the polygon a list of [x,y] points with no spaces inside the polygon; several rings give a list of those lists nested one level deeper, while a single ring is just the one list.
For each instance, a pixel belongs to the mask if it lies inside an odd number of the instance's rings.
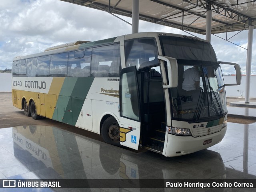
[{"label": "bus side window above the Premium lettering, behind the front-end window", "polygon": [[94,77],[119,77],[119,44],[92,49],[92,74]]}]

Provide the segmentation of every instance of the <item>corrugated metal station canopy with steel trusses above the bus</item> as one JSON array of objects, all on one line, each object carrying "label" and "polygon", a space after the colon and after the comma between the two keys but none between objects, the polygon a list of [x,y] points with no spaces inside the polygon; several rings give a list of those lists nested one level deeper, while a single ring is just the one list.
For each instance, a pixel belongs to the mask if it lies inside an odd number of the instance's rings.
[{"label": "corrugated metal station canopy with steel trusses above the bus", "polygon": [[[62,0],[132,17],[132,0]],[[256,0],[139,0],[139,19],[206,34],[206,11],[212,10],[212,34],[256,28]]]}]

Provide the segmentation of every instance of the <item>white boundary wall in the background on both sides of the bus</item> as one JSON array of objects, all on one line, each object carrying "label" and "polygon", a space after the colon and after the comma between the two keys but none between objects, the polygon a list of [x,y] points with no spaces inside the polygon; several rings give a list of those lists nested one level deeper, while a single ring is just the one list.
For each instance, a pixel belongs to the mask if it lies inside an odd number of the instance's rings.
[{"label": "white boundary wall in the background on both sides of the bus", "polygon": [[[236,98],[245,97],[245,80],[246,80],[246,76],[242,76],[241,85],[227,86],[226,87],[227,97],[236,97]],[[236,76],[224,76],[224,82],[226,84],[235,83]],[[256,76],[251,76],[250,98],[256,98],[255,83],[256,83]],[[237,90],[239,90],[239,92]],[[12,74],[11,73],[0,73],[0,92],[12,92]]]}]

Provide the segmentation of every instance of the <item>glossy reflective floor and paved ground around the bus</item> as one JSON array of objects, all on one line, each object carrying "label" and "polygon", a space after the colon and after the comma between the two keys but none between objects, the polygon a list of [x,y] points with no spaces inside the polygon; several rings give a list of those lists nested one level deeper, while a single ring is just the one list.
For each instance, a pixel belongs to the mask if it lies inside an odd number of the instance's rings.
[{"label": "glossy reflective floor and paved ground around the bus", "polygon": [[[219,144],[179,157],[110,146],[98,134],[49,119],[33,120],[0,93],[0,179],[256,179],[256,123],[228,122]],[[231,118],[232,119],[232,118]],[[234,118],[236,119],[236,118]],[[244,120],[241,118],[241,120]],[[32,150],[34,146],[41,153]],[[41,154],[41,155],[38,155]],[[27,188],[1,188],[31,191]],[[34,191],[255,191],[217,189],[56,189]]]}]

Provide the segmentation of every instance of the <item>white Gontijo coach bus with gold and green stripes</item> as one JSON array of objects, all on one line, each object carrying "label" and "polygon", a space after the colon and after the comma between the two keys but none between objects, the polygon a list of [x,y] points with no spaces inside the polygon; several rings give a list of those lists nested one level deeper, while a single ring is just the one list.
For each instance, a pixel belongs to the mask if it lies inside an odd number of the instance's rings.
[{"label": "white Gontijo coach bus with gold and green stripes", "polygon": [[[235,67],[235,84],[224,84],[221,63]],[[12,74],[13,105],[26,116],[44,116],[101,134],[109,144],[164,156],[220,142],[227,125],[225,86],[241,81],[240,66],[218,62],[206,40],[157,32],[16,57]]]}]

